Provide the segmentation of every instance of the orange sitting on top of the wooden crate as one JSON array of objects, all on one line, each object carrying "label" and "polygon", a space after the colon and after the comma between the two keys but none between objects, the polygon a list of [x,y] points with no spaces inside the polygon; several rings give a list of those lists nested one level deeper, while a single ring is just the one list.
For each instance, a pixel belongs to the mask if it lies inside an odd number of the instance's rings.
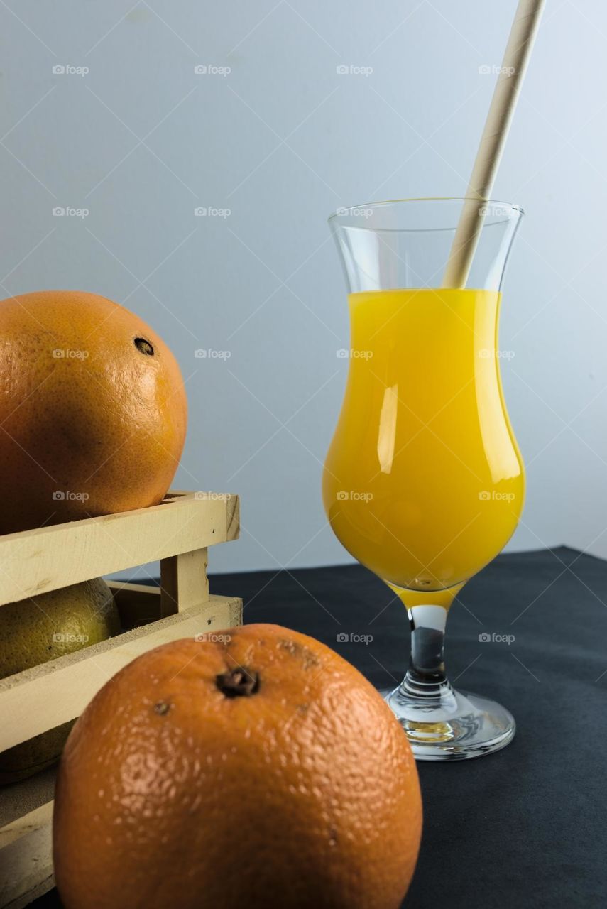
[{"label": "orange sitting on top of the wooden crate", "polygon": [[0,302],[0,533],[159,503],[184,383],[164,341],[95,294]]}]

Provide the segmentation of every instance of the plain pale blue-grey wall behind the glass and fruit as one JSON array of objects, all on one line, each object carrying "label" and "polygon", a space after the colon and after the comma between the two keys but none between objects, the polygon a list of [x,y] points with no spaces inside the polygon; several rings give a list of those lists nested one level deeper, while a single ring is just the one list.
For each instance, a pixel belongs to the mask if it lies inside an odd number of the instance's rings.
[{"label": "plain pale blue-grey wall behind the glass and fruit", "polygon": [[[175,485],[243,498],[215,571],[348,560],[320,498],[348,333],[325,217],[463,194],[515,5],[0,0],[3,295],[93,291],[172,346]],[[606,40],[600,0],[547,5],[493,194],[527,212],[500,345],[529,472],[511,549],[607,555]]]}]

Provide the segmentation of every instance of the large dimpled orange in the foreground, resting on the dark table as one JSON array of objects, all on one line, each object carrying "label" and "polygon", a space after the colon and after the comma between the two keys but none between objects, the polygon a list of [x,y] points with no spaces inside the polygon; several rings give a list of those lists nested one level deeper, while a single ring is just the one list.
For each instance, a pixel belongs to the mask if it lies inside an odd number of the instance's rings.
[{"label": "large dimpled orange in the foreground, resting on the dark table", "polygon": [[66,909],[397,909],[422,804],[390,709],[304,634],[206,636],[140,656],[75,724],[55,794]]}]

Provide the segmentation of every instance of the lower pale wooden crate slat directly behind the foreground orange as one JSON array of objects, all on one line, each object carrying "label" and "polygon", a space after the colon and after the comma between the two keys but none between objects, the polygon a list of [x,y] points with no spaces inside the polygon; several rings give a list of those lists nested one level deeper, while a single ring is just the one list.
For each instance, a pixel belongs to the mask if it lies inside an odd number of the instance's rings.
[{"label": "lower pale wooden crate slat directly behind the foreground orange", "polygon": [[202,606],[0,680],[0,751],[79,716],[118,670],[145,651],[241,623],[242,600],[213,595]]}]

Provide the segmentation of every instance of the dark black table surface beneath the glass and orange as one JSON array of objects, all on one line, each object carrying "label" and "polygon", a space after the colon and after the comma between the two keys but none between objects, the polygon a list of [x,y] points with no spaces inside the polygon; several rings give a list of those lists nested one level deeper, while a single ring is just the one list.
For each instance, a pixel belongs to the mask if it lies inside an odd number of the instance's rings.
[{"label": "dark black table surface beneath the glass and orange", "polygon": [[[400,681],[406,615],[362,567],[223,574],[211,586],[244,598],[245,623],[312,634],[373,684]],[[418,764],[423,841],[404,906],[607,906],[607,563],[567,547],[502,555],[463,588],[447,632],[452,681],[502,701],[518,729],[496,754]],[[58,906],[55,891],[34,905]]]}]

